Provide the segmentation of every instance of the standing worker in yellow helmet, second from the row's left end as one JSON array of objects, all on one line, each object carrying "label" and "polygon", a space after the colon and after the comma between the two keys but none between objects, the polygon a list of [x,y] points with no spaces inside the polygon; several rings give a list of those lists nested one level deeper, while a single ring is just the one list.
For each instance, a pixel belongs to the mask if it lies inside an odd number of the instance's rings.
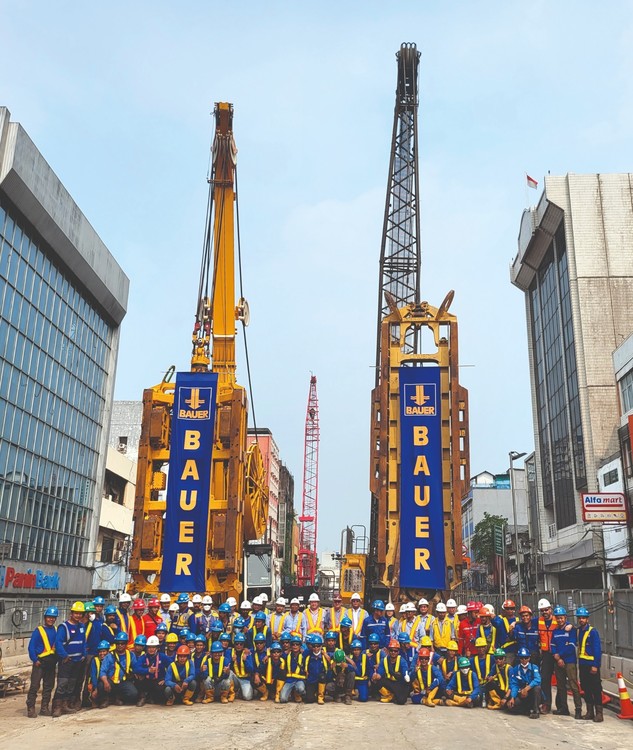
[{"label": "standing worker in yellow helmet, second from the row's left end", "polygon": [[75,602],[70,608],[70,617],[57,628],[55,652],[59,659],[57,667],[57,689],[53,696],[54,718],[62,714],[74,714],[77,709],[71,708],[77,680],[83,674],[86,660],[86,628],[83,602]]}]

